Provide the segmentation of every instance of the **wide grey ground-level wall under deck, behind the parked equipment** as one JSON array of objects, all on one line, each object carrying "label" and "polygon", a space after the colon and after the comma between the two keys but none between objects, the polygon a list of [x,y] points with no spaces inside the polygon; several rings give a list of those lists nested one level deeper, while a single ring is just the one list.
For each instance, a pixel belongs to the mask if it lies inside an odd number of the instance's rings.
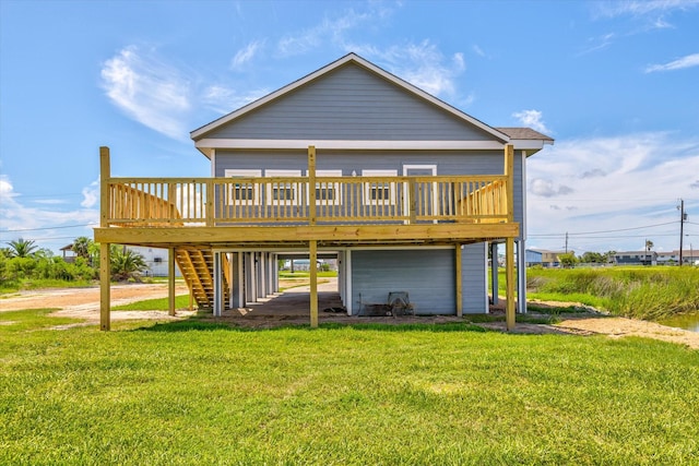
[{"label": "wide grey ground-level wall under deck, behind the parked equipment", "polygon": [[359,300],[384,303],[391,291],[407,291],[416,314],[457,312],[453,249],[353,250],[351,273],[355,314]]}]

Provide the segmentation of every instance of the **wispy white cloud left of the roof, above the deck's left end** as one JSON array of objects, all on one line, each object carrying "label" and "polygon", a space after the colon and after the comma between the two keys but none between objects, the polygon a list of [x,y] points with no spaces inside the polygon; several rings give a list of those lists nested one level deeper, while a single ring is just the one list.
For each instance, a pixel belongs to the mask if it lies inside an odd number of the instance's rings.
[{"label": "wispy white cloud left of the roof, above the deck's left end", "polygon": [[155,55],[129,46],[107,60],[102,86],[129,117],[173,139],[187,135],[190,85],[182,73]]}]

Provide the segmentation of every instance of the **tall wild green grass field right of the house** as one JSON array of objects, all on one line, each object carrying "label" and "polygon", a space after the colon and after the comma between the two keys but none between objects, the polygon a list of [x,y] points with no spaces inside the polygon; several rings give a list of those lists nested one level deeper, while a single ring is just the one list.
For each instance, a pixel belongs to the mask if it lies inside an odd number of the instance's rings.
[{"label": "tall wild green grass field right of the house", "polygon": [[[503,292],[503,275],[498,285]],[[697,267],[532,267],[526,271],[526,289],[528,298],[581,302],[637,319],[699,312]]]}]

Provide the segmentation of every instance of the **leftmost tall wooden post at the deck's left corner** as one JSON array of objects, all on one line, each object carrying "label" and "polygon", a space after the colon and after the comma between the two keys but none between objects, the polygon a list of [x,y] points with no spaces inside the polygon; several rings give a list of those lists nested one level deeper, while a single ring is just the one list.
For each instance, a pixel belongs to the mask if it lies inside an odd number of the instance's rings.
[{"label": "leftmost tall wooden post at the deck's left corner", "polygon": [[[109,147],[99,147],[99,226],[109,226]],[[109,331],[111,326],[111,267],[109,266],[109,243],[99,244],[99,330]]]}]

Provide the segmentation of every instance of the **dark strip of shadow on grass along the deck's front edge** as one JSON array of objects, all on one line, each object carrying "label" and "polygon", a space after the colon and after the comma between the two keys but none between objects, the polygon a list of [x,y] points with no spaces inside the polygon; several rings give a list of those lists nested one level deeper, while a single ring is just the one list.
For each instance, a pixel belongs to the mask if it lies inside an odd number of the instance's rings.
[{"label": "dark strip of shadow on grass along the deck's front edge", "polygon": [[229,331],[229,332],[275,332],[285,330],[301,330],[301,331],[323,331],[323,330],[343,330],[353,328],[359,331],[372,331],[372,332],[491,332],[490,330],[483,328],[478,325],[474,325],[470,322],[443,322],[443,323],[357,323],[357,322],[327,322],[320,323],[319,328],[311,328],[310,324],[300,323],[279,323],[261,325],[249,325],[246,323],[239,323],[235,321],[216,321],[212,322],[208,319],[201,319],[192,316],[181,321],[174,322],[158,322],[154,325],[146,327],[133,328],[131,332],[214,332],[214,331]]}]

